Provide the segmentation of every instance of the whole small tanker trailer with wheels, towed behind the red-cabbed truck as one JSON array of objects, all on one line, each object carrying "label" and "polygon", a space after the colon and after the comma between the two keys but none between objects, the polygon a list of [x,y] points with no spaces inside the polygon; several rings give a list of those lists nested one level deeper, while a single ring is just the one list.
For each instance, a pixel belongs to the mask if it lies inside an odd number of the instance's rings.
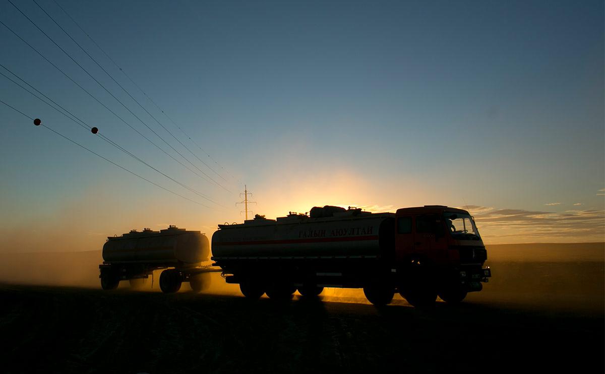
[{"label": "whole small tanker trailer with wheels, towed behind the red-cabbed truck", "polygon": [[209,285],[209,243],[200,231],[187,231],[176,226],[152,231],[136,230],[121,236],[108,237],[103,245],[103,263],[99,265],[101,287],[116,289],[120,281],[128,280],[133,288],[142,287],[153,276],[160,274],[160,289],[165,293],[177,292],[182,282],[200,291]]}]

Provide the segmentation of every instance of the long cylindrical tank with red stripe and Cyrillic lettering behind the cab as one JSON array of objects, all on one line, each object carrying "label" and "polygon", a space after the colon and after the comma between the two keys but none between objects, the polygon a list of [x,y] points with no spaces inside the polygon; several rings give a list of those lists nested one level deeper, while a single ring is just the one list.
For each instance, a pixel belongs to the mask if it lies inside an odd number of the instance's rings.
[{"label": "long cylindrical tank with red stripe and Cyrillic lettering behind the cab", "polygon": [[[212,235],[212,258],[379,257],[385,246],[392,244],[384,238],[393,235],[393,226],[385,225],[392,216],[348,211],[333,217],[292,214],[277,220],[220,225]],[[390,230],[388,235],[384,234],[385,226]]]}]

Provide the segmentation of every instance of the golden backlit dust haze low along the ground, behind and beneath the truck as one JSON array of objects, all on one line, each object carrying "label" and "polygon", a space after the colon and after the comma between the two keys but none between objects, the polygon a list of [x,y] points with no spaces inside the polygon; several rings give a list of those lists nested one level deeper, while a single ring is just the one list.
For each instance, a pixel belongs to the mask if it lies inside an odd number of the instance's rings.
[{"label": "golden backlit dust haze low along the ground, behind and beneath the truck", "polygon": [[[493,277],[482,292],[468,295],[469,301],[502,303],[558,304],[560,306],[600,308],[605,303],[605,243],[575,244],[495,244],[487,246]],[[0,283],[39,284],[100,288],[101,251],[38,252],[0,254]],[[209,264],[209,263],[208,263]],[[152,277],[137,292],[161,292],[159,277]],[[203,294],[242,297],[238,284],[227,284],[220,272],[209,275]],[[130,289],[128,281],[120,289]],[[192,292],[183,283],[179,292]],[[266,296],[263,296],[266,298]],[[301,296],[296,292],[294,298]],[[361,289],[326,288],[323,301],[364,303]],[[399,295],[393,304],[407,305]]]}]

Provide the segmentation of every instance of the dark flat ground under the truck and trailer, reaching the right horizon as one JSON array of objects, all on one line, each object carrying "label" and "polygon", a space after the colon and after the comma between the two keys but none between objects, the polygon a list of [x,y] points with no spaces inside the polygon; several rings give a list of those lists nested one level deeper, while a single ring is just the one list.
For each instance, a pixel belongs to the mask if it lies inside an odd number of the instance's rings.
[{"label": "dark flat ground under the truck and trailer, reaching the right horizon", "polygon": [[276,302],[0,284],[0,359],[5,373],[604,372],[602,262],[492,268],[482,292],[433,310],[335,289]]}]

